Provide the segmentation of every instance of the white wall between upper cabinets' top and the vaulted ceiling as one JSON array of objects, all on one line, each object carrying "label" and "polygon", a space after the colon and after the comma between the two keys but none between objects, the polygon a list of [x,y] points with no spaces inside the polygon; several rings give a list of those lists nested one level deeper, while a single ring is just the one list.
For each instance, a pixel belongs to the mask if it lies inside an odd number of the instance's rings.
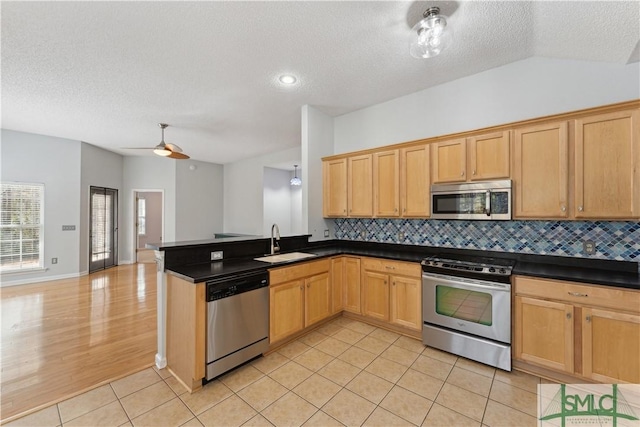
[{"label": "white wall between upper cabinets' top and the vaulted ceiling", "polygon": [[529,58],[336,117],[334,153],[638,98],[638,63]]}]

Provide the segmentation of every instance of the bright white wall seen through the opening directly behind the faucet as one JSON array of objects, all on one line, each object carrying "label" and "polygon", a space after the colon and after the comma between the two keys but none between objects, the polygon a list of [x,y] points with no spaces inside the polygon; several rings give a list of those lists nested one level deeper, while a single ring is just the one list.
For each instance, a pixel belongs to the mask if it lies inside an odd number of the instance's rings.
[{"label": "bright white wall seen through the opening directly behind the faucet", "polygon": [[271,226],[278,224],[281,236],[291,233],[291,175],[288,171],[264,168],[263,181],[263,227],[262,235],[271,235]]}]

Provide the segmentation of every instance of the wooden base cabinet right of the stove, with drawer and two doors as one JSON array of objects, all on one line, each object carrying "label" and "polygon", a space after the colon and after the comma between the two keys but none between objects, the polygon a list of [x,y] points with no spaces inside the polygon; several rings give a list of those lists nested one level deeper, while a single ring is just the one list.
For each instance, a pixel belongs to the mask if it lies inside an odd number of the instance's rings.
[{"label": "wooden base cabinet right of the stove, with drawer and two doors", "polygon": [[516,276],[514,359],[605,383],[640,382],[640,291]]}]

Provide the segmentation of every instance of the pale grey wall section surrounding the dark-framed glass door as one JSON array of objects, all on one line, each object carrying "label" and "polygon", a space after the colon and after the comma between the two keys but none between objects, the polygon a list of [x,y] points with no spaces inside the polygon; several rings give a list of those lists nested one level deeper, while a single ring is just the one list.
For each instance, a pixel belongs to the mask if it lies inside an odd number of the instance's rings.
[{"label": "pale grey wall section surrounding the dark-framed glass door", "polygon": [[[122,218],[123,156],[85,142],[80,145],[80,273],[89,271],[89,187],[118,190],[118,220]],[[119,230],[118,254],[123,249]]]}]

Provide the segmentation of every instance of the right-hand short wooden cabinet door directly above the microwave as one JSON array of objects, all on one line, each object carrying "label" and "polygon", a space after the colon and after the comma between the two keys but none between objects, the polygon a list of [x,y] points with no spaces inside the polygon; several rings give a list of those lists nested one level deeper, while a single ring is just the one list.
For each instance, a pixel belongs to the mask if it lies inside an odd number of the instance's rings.
[{"label": "right-hand short wooden cabinet door directly above the microwave", "polygon": [[469,179],[509,178],[509,131],[467,138]]}]

